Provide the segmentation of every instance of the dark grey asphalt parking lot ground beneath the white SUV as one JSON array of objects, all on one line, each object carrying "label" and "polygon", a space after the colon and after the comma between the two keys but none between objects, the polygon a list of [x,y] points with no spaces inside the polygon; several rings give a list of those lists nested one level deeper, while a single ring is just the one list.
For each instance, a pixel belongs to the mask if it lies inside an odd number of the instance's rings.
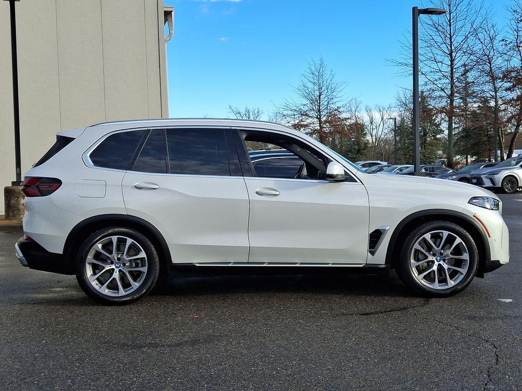
[{"label": "dark grey asphalt parking lot ground beneath the white SUV", "polygon": [[395,276],[213,277],[103,307],[0,233],[0,389],[522,389],[522,193],[500,197],[511,262],[436,300]]}]

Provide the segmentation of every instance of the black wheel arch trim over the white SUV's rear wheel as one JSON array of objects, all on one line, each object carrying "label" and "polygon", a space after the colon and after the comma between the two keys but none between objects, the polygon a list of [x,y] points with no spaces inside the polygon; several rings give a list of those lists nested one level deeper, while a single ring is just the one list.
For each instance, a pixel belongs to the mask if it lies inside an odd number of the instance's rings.
[{"label": "black wheel arch trim over the white SUV's rear wheel", "polygon": [[[160,256],[160,265],[162,267],[172,263],[169,246],[160,231],[143,218],[125,214],[103,214],[88,217],[76,224],[65,240],[63,251],[63,254],[66,256],[65,259],[74,260],[82,240],[85,240],[85,238],[94,231],[110,226],[120,226],[139,231],[141,234],[147,236],[152,244],[155,245],[158,250],[158,255]],[[74,262],[70,261],[68,261],[68,263],[74,264]],[[160,270],[160,274],[162,272],[163,270]]]}]

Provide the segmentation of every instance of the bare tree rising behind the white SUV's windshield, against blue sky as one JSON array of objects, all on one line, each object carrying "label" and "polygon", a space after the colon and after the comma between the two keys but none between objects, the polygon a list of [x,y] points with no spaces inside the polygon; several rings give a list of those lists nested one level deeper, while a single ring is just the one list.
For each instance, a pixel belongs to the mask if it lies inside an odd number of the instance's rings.
[{"label": "bare tree rising behind the white SUV's windshield, against blue sky", "polygon": [[277,108],[277,115],[296,129],[303,130],[322,143],[333,140],[328,118],[340,115],[346,107],[343,90],[345,83],[335,79],[323,58],[310,60],[293,88],[295,98],[286,100]]}]

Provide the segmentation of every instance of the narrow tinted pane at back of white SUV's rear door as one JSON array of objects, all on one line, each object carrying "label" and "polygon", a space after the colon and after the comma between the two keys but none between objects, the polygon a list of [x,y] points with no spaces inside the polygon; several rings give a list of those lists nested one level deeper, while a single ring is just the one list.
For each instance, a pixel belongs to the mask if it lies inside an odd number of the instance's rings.
[{"label": "narrow tinted pane at back of white SUV's rear door", "polygon": [[150,132],[143,149],[139,153],[133,171],[142,173],[167,173],[167,144],[165,129]]}]

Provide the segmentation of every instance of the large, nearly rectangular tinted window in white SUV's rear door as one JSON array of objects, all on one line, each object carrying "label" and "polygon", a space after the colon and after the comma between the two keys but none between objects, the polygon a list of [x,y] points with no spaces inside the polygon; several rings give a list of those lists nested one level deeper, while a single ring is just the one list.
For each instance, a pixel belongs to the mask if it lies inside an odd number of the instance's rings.
[{"label": "large, nearly rectangular tinted window in white SUV's rear door", "polygon": [[171,174],[230,175],[224,129],[167,129]]}]

